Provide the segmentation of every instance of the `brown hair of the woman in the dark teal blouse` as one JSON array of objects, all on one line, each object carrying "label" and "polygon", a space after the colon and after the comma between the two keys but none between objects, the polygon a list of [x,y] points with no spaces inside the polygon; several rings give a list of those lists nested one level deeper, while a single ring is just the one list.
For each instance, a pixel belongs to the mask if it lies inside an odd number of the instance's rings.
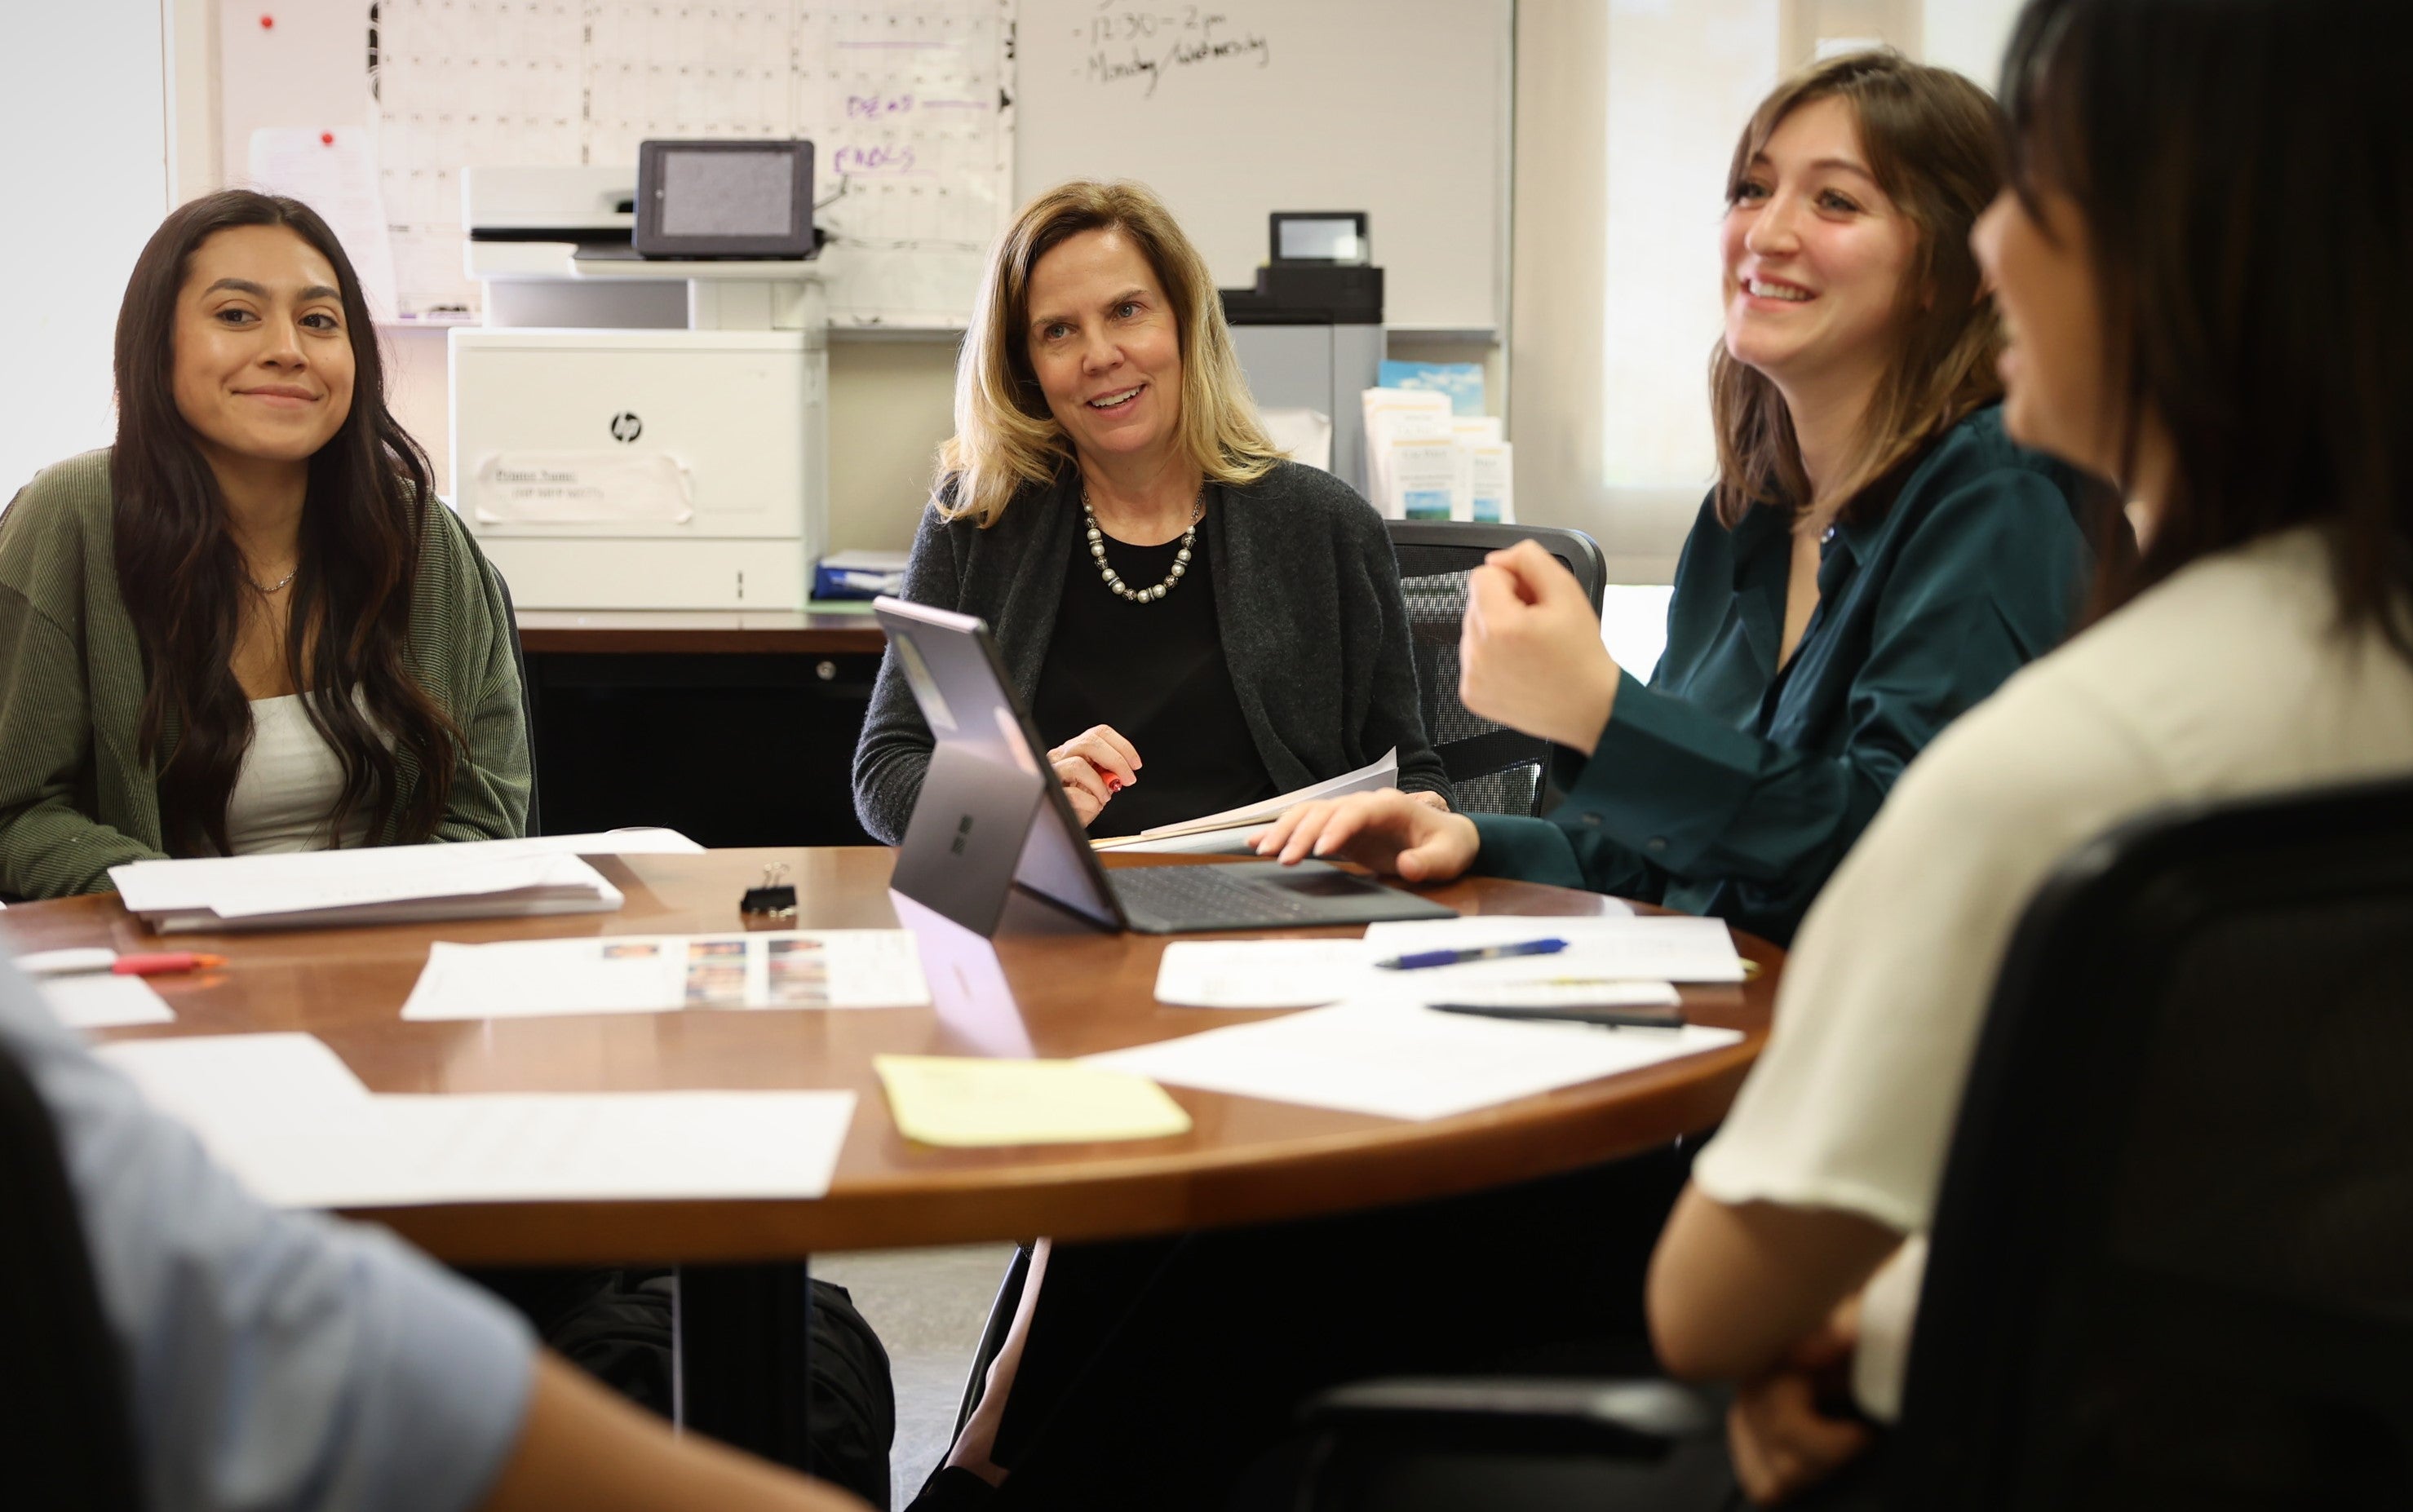
[{"label": "brown hair of the woman in the dark teal blouse", "polygon": [[[2003,326],[1969,251],[1969,227],[2003,188],[2000,113],[1983,89],[1947,68],[1894,51],[1829,58],[1752,111],[1725,174],[1728,205],[1786,116],[1819,99],[1851,106],[1868,171],[1918,232],[1901,280],[1899,350],[1860,417],[1844,477],[1831,485],[1851,499],[1928,436],[2003,398],[1993,371]],[[1723,340],[1708,359],[1708,403],[1718,432],[1718,521],[1733,528],[1754,504],[1807,506],[1810,475],[1783,395],[1766,374],[1735,362]]]}]

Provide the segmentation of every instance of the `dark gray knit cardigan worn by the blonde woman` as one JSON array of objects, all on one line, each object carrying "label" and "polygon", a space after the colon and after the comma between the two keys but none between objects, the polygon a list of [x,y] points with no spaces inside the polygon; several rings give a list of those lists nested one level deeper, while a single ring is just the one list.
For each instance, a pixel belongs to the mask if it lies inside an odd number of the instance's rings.
[{"label": "dark gray knit cardigan worn by the blonde woman", "polygon": [[[987,531],[929,506],[915,533],[905,598],[987,620],[1026,709],[1054,639],[1079,521],[1079,485],[1059,480],[1026,487]],[[1383,516],[1339,477],[1279,463],[1248,487],[1209,485],[1199,535],[1231,685],[1274,789],[1339,776],[1397,745],[1400,786],[1448,798],[1450,779],[1416,707],[1400,562]],[[890,651],[854,748],[854,813],[876,839],[905,837],[929,750],[929,726]]]}]

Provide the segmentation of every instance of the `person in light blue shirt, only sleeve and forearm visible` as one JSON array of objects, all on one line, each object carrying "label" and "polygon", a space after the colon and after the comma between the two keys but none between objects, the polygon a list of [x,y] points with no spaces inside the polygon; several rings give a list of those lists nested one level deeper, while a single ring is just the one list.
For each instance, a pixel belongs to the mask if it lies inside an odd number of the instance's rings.
[{"label": "person in light blue shirt, only sleeve and forearm visible", "polygon": [[0,1054],[58,1129],[157,1512],[861,1512],[538,1350],[393,1237],[256,1201],[0,960]]}]

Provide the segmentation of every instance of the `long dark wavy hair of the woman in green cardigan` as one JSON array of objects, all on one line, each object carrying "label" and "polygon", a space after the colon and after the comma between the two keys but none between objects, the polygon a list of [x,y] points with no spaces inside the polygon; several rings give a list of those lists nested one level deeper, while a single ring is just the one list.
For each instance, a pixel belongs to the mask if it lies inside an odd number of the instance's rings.
[{"label": "long dark wavy hair of the woman in green cardigan", "polygon": [[222,191],[174,210],[152,232],[118,309],[118,439],[109,458],[116,567],[142,644],[140,752],[159,769],[166,849],[229,849],[227,796],[251,748],[251,704],[232,668],[251,588],[217,475],[174,388],[176,301],[193,248],[234,227],[285,227],[335,270],[352,342],[352,408],[309,458],[285,673],[306,690],[309,723],[343,762],[331,832],[340,837],[352,815],[367,813],[372,837],[391,822],[391,839],[420,842],[444,817],[461,740],[405,663],[427,511],[442,509],[427,456],[386,410],[376,328],[335,234],[299,200]]}]

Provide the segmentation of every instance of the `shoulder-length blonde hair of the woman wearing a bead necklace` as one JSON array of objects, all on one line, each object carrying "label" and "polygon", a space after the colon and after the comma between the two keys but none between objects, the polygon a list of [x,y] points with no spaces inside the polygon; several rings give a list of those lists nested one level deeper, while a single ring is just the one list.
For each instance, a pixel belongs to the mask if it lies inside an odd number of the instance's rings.
[{"label": "shoulder-length blonde hair of the woman wearing a bead necklace", "polygon": [[1264,477],[1281,453],[1257,424],[1257,403],[1223,326],[1223,297],[1173,212],[1141,183],[1074,178],[1023,205],[989,253],[972,328],[956,359],[956,434],[939,446],[934,492],[943,518],[989,528],[1023,485],[1074,465],[1074,446],[1047,412],[1030,369],[1030,270],[1081,232],[1122,232],[1163,285],[1180,330],[1182,393],[1175,441],[1214,482]]}]

